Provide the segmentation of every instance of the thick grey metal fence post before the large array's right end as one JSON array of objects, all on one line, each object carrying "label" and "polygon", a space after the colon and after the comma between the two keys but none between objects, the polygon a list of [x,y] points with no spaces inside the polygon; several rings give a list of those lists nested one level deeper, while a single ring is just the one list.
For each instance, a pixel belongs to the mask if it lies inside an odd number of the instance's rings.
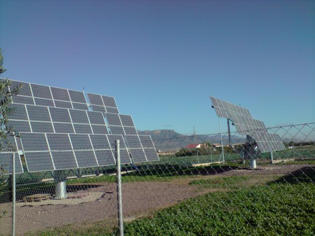
[{"label": "thick grey metal fence post before the large array's right end", "polygon": [[122,194],[121,194],[121,172],[120,172],[120,144],[115,140],[116,149],[116,181],[117,181],[117,209],[119,235],[123,236]]}]

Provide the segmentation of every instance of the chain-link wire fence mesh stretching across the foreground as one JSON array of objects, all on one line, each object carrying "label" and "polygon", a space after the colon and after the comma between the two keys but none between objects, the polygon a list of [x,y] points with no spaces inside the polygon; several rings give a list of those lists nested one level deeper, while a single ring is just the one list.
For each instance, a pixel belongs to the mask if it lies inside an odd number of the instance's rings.
[{"label": "chain-link wire fence mesh stretching across the foreground", "polygon": [[[159,161],[121,165],[124,233],[314,234],[315,123],[266,131],[285,149],[252,152],[236,132],[231,145],[228,133],[153,140]],[[22,165],[16,234],[119,234],[115,166],[28,173],[23,157]],[[12,228],[11,181],[2,173],[3,235]]]}]

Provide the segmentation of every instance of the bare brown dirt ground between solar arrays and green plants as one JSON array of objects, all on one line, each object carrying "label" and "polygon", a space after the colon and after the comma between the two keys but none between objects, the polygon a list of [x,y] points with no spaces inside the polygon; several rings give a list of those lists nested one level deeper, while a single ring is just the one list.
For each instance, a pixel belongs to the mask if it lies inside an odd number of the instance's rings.
[{"label": "bare brown dirt ground between solar arrays and green plants", "polygon": [[[231,169],[215,175],[203,175],[201,173],[193,177],[175,178],[170,182],[123,183],[124,217],[125,220],[132,220],[146,212],[168,207],[183,199],[210,191],[218,191],[216,189],[200,190],[196,185],[189,185],[192,180],[246,175],[253,177],[251,181],[248,181],[248,185],[257,185],[265,184],[276,176],[287,175],[307,167],[307,165],[274,165],[270,167],[264,166],[263,169],[255,171]],[[82,189],[85,190],[80,190],[76,193],[85,193],[83,198],[79,200],[60,200],[60,204],[55,203],[57,200],[51,199],[36,204],[19,202],[16,207],[17,235],[43,230],[47,227],[81,224],[116,216],[117,196],[115,183],[98,184],[93,188]],[[10,208],[11,203],[0,204],[0,212]],[[11,217],[8,214],[0,218],[0,235],[10,232],[10,224]]]}]

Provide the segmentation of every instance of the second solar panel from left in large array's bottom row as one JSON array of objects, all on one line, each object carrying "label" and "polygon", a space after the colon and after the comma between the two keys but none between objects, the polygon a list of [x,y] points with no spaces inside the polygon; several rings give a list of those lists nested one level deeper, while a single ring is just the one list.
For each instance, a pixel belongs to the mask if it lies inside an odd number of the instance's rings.
[{"label": "second solar panel from left in large array's bottom row", "polygon": [[[23,141],[22,141],[23,142]],[[50,152],[24,152],[28,172],[53,171]]]}]

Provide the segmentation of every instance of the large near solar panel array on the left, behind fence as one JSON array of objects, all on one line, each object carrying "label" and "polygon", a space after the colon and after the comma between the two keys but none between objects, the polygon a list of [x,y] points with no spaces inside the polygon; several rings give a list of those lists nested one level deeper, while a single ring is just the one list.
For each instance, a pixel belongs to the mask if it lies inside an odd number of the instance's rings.
[{"label": "large near solar panel array on the left, behind fence", "polygon": [[[23,151],[29,172],[114,165],[116,139],[122,164],[159,160],[151,137],[138,135],[132,117],[119,114],[113,97],[88,93],[88,104],[81,91],[12,81],[12,87],[20,84],[9,125],[21,134],[12,143]],[[0,165],[9,154],[0,153]],[[10,162],[5,166],[9,170]]]}]

